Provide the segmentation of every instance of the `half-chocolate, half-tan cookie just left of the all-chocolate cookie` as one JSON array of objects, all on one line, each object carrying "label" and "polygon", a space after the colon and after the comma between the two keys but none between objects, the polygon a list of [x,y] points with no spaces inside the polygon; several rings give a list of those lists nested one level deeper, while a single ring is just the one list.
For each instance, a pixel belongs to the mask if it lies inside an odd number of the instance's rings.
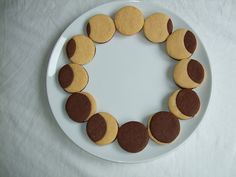
[{"label": "half-chocolate, half-tan cookie just left of the all-chocolate cookie", "polygon": [[89,118],[86,131],[93,142],[98,145],[106,145],[116,139],[118,123],[111,114],[99,112]]}]

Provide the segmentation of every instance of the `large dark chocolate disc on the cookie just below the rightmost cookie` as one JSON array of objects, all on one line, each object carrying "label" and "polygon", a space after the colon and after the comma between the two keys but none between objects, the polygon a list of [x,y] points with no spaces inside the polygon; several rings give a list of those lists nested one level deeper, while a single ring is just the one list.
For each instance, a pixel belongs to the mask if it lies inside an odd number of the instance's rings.
[{"label": "large dark chocolate disc on the cookie just below the rightmost cookie", "polygon": [[182,89],[177,94],[176,105],[181,113],[193,117],[200,108],[200,100],[191,89]]}]

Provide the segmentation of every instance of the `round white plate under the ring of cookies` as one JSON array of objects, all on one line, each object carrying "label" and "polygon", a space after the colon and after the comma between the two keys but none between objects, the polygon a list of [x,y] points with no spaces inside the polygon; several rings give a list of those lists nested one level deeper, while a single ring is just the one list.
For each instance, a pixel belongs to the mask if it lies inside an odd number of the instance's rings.
[{"label": "round white plate under the ring of cookies", "polygon": [[[154,159],[183,143],[203,119],[211,95],[211,69],[206,50],[197,36],[198,48],[192,58],[200,61],[207,77],[195,91],[201,99],[201,110],[190,120],[180,121],[181,133],[171,144],[158,145],[149,140],[147,147],[139,153],[128,153],[115,141],[106,146],[97,146],[87,137],[86,124],[71,121],[64,109],[69,94],[64,92],[57,82],[58,70],[69,62],[65,55],[65,43],[73,35],[86,34],[85,24],[89,17],[104,13],[114,13],[125,5],[134,5],[142,10],[145,17],[154,12],[164,12],[171,16],[174,30],[191,27],[174,13],[150,2],[111,2],[101,5],[77,18],[58,39],[48,64],[47,94],[51,110],[65,134],[85,151],[114,162],[136,163]],[[193,31],[193,30],[192,30]],[[195,33],[196,34],[196,33]],[[133,36],[122,36],[116,32],[111,41],[96,44],[96,56],[85,65],[89,73],[89,84],[85,91],[92,93],[97,101],[98,111],[113,114],[119,124],[137,120],[144,124],[147,118],[158,111],[168,110],[167,100],[171,92],[177,89],[172,80],[176,61],[167,56],[165,44],[147,41],[140,32]]]}]

